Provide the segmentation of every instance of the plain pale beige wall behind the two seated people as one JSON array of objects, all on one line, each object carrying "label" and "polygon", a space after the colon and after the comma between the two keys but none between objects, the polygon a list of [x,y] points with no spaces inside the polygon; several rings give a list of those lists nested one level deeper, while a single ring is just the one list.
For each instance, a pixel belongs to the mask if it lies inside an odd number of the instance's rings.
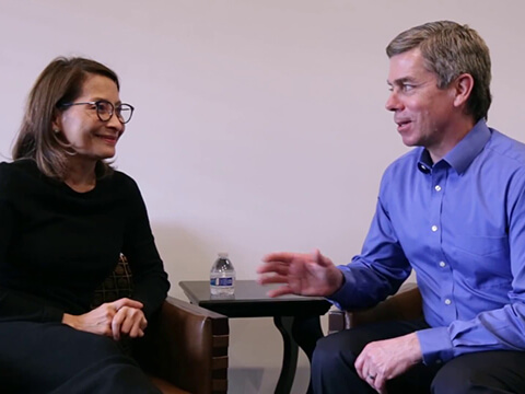
[{"label": "plain pale beige wall behind the two seated people", "polygon": [[[137,107],[118,167],[147,200],[171,293],[229,251],[241,279],[265,253],[358,253],[380,176],[406,151],[384,47],[431,20],[468,23],[493,59],[490,125],[524,139],[521,0],[0,0],[0,155],[28,90],[58,55],[114,68]],[[231,322],[232,393],[270,393],[281,345],[270,320]],[[294,393],[305,391],[301,359]]]}]

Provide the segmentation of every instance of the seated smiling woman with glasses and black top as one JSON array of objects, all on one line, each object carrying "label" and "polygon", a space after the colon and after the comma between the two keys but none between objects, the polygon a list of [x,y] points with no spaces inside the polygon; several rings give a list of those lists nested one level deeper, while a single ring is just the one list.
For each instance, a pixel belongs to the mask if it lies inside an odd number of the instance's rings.
[{"label": "seated smiling woman with glasses and black top", "polygon": [[[159,393],[122,337],[144,335],[170,283],[137,184],[106,162],[133,107],[107,67],[58,58],[0,164],[0,391]],[[124,253],[133,299],[90,311]]]}]

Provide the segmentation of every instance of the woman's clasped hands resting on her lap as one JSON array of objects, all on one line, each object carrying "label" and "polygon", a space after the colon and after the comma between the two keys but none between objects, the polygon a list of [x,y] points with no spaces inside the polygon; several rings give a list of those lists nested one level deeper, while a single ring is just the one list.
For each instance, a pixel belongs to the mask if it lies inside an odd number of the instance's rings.
[{"label": "woman's clasped hands resting on her lap", "polygon": [[142,303],[127,298],[107,302],[82,315],[63,314],[62,323],[88,333],[105,335],[115,340],[121,334],[131,338],[144,335],[148,325]]}]

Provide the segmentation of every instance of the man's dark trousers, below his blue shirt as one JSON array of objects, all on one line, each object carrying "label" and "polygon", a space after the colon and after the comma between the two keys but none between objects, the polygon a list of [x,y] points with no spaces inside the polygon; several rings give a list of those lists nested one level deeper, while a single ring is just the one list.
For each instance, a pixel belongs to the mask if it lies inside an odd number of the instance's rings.
[{"label": "man's dark trousers, below his blue shirt", "polygon": [[[420,321],[387,322],[346,329],[317,341],[312,360],[316,394],[376,394],[353,364],[364,346],[428,328]],[[387,382],[388,394],[525,393],[525,352],[485,351],[459,356],[445,364],[419,363]]]}]

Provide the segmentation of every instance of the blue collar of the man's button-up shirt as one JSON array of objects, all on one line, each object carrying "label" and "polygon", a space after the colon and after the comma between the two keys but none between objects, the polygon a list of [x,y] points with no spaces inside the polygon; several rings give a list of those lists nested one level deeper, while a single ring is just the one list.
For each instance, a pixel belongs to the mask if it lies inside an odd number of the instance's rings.
[{"label": "blue collar of the man's button-up shirt", "polygon": [[[470,165],[474,159],[481,152],[490,139],[490,130],[485,119],[480,119],[476,126],[442,159],[446,161],[456,173],[460,174]],[[422,149],[418,169],[424,174],[432,169],[432,159],[427,149]]]}]

